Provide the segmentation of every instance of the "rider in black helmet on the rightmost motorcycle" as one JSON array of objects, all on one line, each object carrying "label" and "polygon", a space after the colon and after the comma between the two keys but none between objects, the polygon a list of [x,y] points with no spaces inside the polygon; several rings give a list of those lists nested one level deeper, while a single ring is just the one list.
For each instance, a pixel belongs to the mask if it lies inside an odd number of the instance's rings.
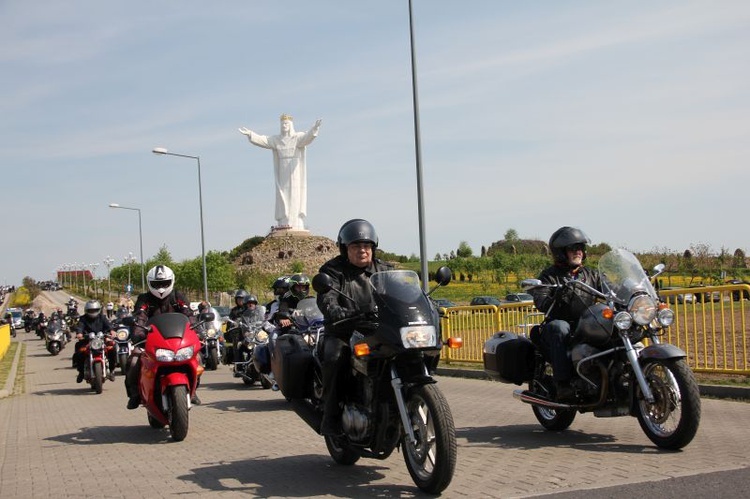
[{"label": "rider in black helmet on the rightmost motorcycle", "polygon": [[[581,229],[560,227],[549,239],[553,264],[542,271],[539,280],[543,284],[562,284],[575,280],[601,290],[599,272],[584,266],[586,244],[589,238]],[[558,288],[532,291],[534,305],[540,312],[549,313],[541,329],[540,342],[552,364],[557,400],[569,402],[575,398],[570,380],[573,378],[573,363],[568,355],[570,332],[575,330],[581,314],[593,304],[594,297],[580,288]]]}]

